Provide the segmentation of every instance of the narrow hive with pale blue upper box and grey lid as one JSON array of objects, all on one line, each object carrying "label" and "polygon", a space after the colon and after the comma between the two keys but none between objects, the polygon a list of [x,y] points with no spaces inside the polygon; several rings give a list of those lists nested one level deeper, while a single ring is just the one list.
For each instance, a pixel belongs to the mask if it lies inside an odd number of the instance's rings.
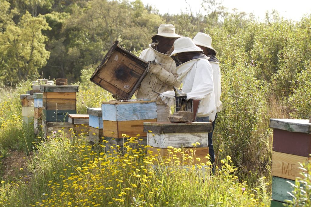
[{"label": "narrow hive with pale blue upper box and grey lid", "polygon": [[87,108],[89,115],[89,141],[91,144],[101,142],[103,133],[103,119],[101,108]]}]

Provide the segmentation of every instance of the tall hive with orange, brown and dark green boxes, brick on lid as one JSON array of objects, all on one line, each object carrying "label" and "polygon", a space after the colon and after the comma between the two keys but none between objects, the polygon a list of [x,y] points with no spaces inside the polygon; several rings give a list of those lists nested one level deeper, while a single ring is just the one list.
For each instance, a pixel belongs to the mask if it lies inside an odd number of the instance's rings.
[{"label": "tall hive with orange, brown and dark green boxes, brick on lid", "polygon": [[45,137],[58,130],[64,130],[69,137],[71,124],[68,122],[68,114],[77,114],[76,96],[79,86],[40,85],[40,91],[43,92],[42,125]]}]

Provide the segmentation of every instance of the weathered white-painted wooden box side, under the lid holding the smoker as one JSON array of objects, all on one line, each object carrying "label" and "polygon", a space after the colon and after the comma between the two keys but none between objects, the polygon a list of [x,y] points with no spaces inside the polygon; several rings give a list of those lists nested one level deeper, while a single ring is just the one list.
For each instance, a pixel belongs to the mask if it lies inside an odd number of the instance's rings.
[{"label": "weathered white-painted wooden box side, under the lid holding the smoker", "polygon": [[197,147],[208,146],[208,133],[171,133],[171,134],[154,134],[147,132],[147,144],[152,147],[167,148],[168,146],[193,147],[192,143],[199,142]]}]

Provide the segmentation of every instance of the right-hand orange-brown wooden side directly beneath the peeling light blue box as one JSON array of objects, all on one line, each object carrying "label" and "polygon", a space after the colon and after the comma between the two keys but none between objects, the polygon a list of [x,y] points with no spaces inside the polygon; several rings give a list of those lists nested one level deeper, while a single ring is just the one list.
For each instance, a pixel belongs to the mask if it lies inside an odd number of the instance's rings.
[{"label": "right-hand orange-brown wooden side directly beneath the peeling light blue box", "polygon": [[144,132],[144,122],[146,121],[156,121],[156,119],[118,121],[118,137],[121,138],[122,134],[130,137],[137,137],[137,134],[140,134],[140,137],[146,137],[147,133]]}]

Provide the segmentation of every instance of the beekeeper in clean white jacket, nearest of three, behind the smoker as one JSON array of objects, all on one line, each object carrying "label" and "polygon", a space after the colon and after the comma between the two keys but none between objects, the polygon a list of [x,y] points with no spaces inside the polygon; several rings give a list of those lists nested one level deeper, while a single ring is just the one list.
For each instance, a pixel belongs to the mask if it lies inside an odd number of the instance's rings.
[{"label": "beekeeper in clean white jacket, nearest of three, behind the smoker", "polygon": [[[202,51],[191,38],[181,37],[175,41],[170,56],[176,62],[177,80],[183,83],[182,91],[187,93],[187,99],[201,100],[196,121],[213,122],[216,111],[213,70]],[[208,139],[208,146],[213,164],[215,155],[211,139]]]}]

